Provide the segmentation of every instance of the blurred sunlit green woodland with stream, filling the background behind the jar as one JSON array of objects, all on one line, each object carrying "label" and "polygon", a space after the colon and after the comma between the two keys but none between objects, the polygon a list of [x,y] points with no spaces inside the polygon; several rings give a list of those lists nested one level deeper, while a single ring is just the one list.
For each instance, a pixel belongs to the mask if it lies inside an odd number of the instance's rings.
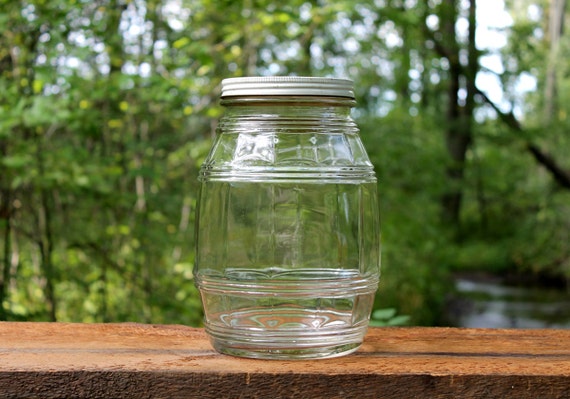
[{"label": "blurred sunlit green woodland with stream, filling the background behind the jar", "polygon": [[223,78],[348,77],[375,325],[570,328],[565,0],[0,0],[0,320],[199,326]]}]

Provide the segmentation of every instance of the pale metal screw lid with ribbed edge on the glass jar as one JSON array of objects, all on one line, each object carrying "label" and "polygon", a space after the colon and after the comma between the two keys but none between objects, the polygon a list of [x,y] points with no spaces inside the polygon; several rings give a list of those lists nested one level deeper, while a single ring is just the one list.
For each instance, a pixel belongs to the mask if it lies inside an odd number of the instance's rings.
[{"label": "pale metal screw lid with ribbed edge on the glass jar", "polygon": [[222,80],[222,98],[237,96],[333,96],[354,99],[349,79],[258,76]]}]

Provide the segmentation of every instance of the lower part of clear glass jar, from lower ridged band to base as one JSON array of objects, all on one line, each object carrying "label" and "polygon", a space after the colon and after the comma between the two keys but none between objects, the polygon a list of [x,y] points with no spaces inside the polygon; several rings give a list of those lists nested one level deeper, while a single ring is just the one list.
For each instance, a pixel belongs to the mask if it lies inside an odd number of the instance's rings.
[{"label": "lower part of clear glass jar, from lower ridged band to base", "polygon": [[206,330],[222,353],[257,358],[333,357],[356,350],[376,278],[342,269],[232,269],[198,276]]}]

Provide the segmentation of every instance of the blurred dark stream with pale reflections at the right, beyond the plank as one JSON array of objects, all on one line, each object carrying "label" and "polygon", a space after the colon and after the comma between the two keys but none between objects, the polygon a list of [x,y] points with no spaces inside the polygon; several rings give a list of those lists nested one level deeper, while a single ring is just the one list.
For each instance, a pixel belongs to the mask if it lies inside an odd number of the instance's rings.
[{"label": "blurred dark stream with pale reflections at the right, beyond the plank", "polygon": [[458,275],[449,325],[470,328],[570,329],[570,290],[513,286],[487,275]]}]

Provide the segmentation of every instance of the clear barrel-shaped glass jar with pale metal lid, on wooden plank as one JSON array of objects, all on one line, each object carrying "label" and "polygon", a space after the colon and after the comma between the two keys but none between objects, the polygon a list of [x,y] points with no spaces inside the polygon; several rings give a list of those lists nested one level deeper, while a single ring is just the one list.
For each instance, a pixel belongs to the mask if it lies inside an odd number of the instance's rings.
[{"label": "clear barrel-shaped glass jar with pale metal lid, on wooden plank", "polygon": [[350,80],[222,82],[199,175],[194,278],[214,348],[310,359],[355,351],[378,287],[376,177]]}]

